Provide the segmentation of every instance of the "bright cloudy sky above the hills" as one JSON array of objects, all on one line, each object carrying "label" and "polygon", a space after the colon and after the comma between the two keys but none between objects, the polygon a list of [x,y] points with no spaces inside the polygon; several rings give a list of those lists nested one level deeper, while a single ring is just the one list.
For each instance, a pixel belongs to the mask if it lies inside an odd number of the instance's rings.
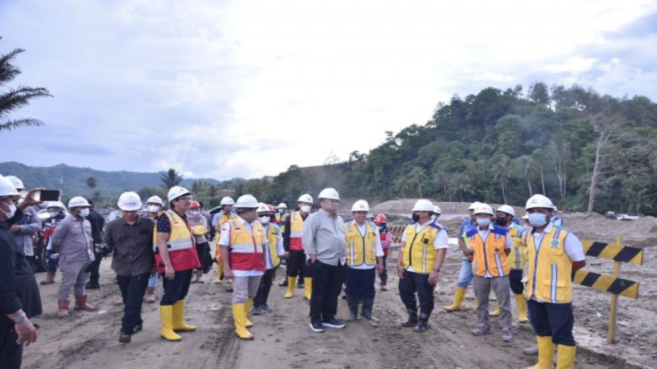
[{"label": "bright cloudy sky above the hills", "polygon": [[533,81],[657,100],[657,2],[0,0],[0,162],[261,177],[368,152],[451,95]]}]

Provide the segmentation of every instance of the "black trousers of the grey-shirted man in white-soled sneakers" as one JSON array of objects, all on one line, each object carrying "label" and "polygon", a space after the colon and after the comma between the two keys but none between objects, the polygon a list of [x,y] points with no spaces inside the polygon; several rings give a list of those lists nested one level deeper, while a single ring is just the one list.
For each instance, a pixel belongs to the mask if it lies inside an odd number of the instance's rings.
[{"label": "black trousers of the grey-shirted man in white-soled sneakers", "polygon": [[344,265],[328,265],[315,260],[311,272],[313,293],[310,296],[310,319],[313,322],[331,320],[338,313]]}]

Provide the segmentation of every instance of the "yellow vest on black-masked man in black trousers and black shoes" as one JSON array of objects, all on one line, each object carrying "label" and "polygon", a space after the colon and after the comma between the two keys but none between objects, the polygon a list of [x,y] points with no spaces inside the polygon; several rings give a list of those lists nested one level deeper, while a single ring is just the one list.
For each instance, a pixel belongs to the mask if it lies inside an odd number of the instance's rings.
[{"label": "yellow vest on black-masked man in black trousers and black shoes", "polygon": [[436,223],[422,228],[420,232],[415,232],[417,223],[406,226],[406,243],[403,247],[403,259],[401,261],[404,269],[413,267],[418,273],[427,274],[434,269],[438,250],[434,249],[434,239],[443,228]]}]

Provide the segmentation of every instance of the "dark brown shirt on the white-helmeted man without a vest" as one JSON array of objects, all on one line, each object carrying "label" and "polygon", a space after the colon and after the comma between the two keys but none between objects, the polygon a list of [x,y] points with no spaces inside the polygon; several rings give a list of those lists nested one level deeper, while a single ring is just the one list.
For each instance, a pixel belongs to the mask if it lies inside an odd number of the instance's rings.
[{"label": "dark brown shirt on the white-helmeted man without a vest", "polygon": [[103,246],[114,250],[112,269],[118,276],[136,276],[150,272],[154,264],[153,229],[155,222],[149,217],[137,217],[134,225],[125,219],[114,219],[105,227]]}]

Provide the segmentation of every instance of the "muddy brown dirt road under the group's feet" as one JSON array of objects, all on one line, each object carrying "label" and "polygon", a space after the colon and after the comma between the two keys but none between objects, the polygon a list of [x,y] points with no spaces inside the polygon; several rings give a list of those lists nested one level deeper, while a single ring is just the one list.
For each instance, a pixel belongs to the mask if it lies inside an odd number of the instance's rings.
[{"label": "muddy brown dirt road under the group's feet", "polygon": [[[388,262],[390,272],[394,262]],[[132,343],[122,345],[118,343],[122,307],[114,305],[120,295],[109,260],[104,260],[102,289],[89,292],[91,303],[101,308],[98,313],[74,312],[68,318],[57,318],[57,284],[41,286],[45,313],[34,319],[41,325],[39,340],[26,349],[24,368],[522,368],[534,364],[534,357],[521,353],[533,341],[528,324],[514,328],[513,343],[503,343],[497,332],[484,337],[470,334],[476,326],[471,309],[442,311],[451,299],[452,277],[458,274],[460,263],[458,253],[449,252],[440,282],[443,293],[436,295],[431,328],[424,334],[399,326],[405,312],[396,292],[397,278],[393,277],[390,291],[376,295],[374,315],[381,320],[378,328],[361,318],[344,330],[311,332],[302,290],[296,290],[292,299],[283,299],[284,289],[274,286],[269,303],[274,313],[252,316],[255,326],[251,332],[256,340],[240,341],[233,335],[231,293],[206,282],[193,284],[188,297],[187,321],[198,326],[196,332],[182,334],[183,341],[177,343],[160,339],[158,305],[145,304],[143,332],[135,334]],[[208,274],[206,280],[212,281],[213,276]],[[282,276],[283,270],[277,282]],[[43,275],[37,274],[37,278]],[[468,297],[466,305],[471,307],[472,292],[468,291]],[[345,318],[346,313],[346,301],[340,299],[338,318]],[[597,334],[604,337],[604,332]],[[650,365],[627,364],[622,358],[595,353],[583,345],[576,367]]]}]

